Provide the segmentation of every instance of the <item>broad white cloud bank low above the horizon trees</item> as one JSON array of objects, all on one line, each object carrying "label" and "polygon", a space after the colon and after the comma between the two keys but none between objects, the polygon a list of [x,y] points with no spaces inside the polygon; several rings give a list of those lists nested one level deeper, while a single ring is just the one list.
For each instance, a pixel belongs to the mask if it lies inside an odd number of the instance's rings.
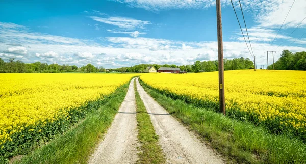
[{"label": "broad white cloud bank low above the horizon trees", "polygon": [[[18,25],[5,25],[0,28],[0,57],[2,59],[20,58],[22,61],[32,63],[39,57],[40,62],[69,64],[82,66],[88,63],[104,66],[105,68],[118,68],[132,64],[157,63],[157,64],[193,64],[196,60],[217,60],[217,42],[184,42],[168,39],[144,37],[103,37],[103,45],[94,40],[82,40],[68,37],[33,33]],[[15,27],[15,28],[14,28]],[[257,37],[260,30],[252,30],[252,37]],[[24,36],[30,36],[24,38]],[[52,41],[54,38],[58,41]],[[302,40],[305,41],[305,40]],[[4,53],[10,43],[22,44],[27,48],[27,58],[21,54]],[[184,45],[184,46],[183,46]],[[266,65],[266,55],[263,49],[268,48],[268,43],[252,42],[254,54],[259,65]],[[15,47],[15,46],[14,46]],[[17,46],[18,47],[18,46]],[[185,48],[183,48],[185,47]],[[251,58],[244,41],[223,42],[224,58]],[[277,46],[272,45],[271,49]],[[279,47],[284,49],[285,46]],[[302,51],[305,47],[291,46],[290,51]],[[152,51],[154,50],[154,51]],[[103,54],[103,55],[99,55]],[[274,55],[277,60],[281,50]],[[274,61],[275,61],[274,60]],[[269,61],[272,57],[269,56]]]}]

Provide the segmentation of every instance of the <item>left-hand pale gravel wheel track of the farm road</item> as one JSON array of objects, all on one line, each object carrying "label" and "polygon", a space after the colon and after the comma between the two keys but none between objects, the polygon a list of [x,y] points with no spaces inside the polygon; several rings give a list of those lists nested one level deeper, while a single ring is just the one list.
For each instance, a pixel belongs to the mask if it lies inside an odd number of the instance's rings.
[{"label": "left-hand pale gravel wheel track of the farm road", "polygon": [[118,113],[89,163],[136,163],[137,121],[134,79],[131,80]]}]

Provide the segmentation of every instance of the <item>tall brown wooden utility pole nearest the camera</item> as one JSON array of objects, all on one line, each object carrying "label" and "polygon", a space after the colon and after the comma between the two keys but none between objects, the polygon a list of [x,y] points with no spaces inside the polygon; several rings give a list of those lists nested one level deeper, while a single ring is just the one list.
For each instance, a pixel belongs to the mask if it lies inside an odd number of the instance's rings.
[{"label": "tall brown wooden utility pole nearest the camera", "polygon": [[222,19],[221,19],[220,0],[216,0],[216,8],[217,8],[218,67],[219,67],[219,102],[220,102],[220,112],[223,112],[225,116],[224,63],[223,63]]}]

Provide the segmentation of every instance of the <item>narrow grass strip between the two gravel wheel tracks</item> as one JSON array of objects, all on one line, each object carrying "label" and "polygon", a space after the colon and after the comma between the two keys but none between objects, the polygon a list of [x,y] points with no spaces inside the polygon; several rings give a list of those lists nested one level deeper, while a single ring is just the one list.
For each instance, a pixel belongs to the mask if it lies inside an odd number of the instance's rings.
[{"label": "narrow grass strip between the two gravel wheel tracks", "polygon": [[136,80],[134,81],[135,98],[137,105],[137,127],[138,140],[141,143],[141,152],[139,163],[166,163],[166,159],[158,144],[159,136],[155,133],[149,114],[136,89]]}]

